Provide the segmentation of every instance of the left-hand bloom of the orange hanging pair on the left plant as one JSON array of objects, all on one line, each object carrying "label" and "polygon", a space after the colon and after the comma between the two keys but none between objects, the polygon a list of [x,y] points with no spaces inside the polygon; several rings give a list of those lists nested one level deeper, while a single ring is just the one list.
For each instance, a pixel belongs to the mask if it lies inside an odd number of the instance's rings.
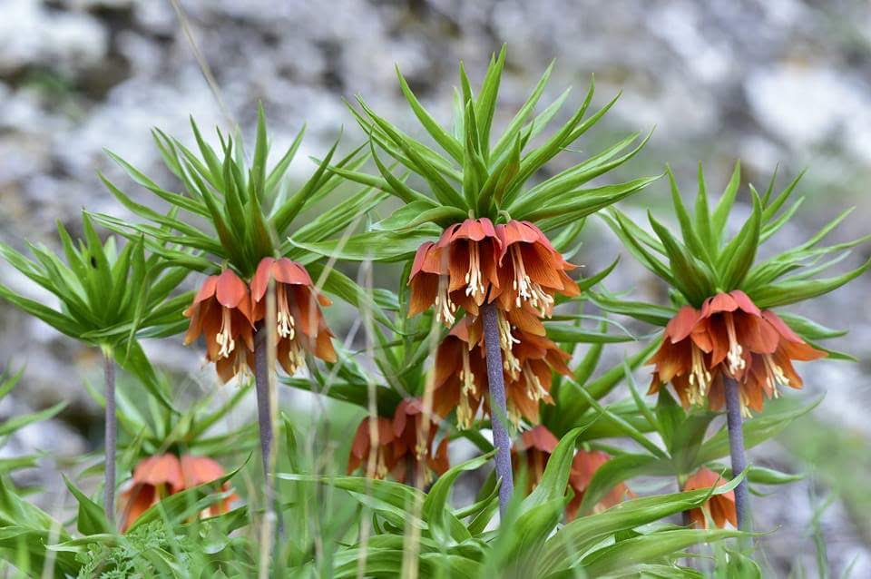
[{"label": "left-hand bloom of the orange hanging pair on the left plant", "polygon": [[248,286],[232,270],[206,278],[191,307],[184,310],[191,324],[184,336],[190,344],[206,339],[206,358],[215,363],[224,382],[245,368],[254,350],[254,319]]}]

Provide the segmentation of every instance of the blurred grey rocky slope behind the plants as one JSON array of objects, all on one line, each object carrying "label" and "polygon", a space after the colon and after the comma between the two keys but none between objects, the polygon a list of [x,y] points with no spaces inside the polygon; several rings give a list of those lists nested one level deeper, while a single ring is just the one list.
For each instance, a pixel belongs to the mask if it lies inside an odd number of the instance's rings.
[{"label": "blurred grey rocky slope behind the plants", "polygon": [[[135,188],[103,147],[166,181],[149,130],[158,126],[189,141],[190,114],[201,126],[239,123],[247,133],[262,101],[276,149],[305,121],[307,138],[293,168],[302,178],[310,171],[308,155],[325,151],[339,123],[347,147],[363,140],[343,98],[361,93],[389,118],[416,126],[397,89],[398,64],[421,100],[446,118],[457,62],[463,59],[480,79],[503,43],[509,46],[500,94],[506,115],[556,59],[543,102],[573,85],[569,102],[580,103],[593,73],[596,103],[622,91],[612,113],[579,143],[582,152],[656,127],[623,176],[661,172],[670,162],[685,191],[693,191],[695,165],[703,161],[710,190],[719,191],[736,158],[745,181],[758,187],[778,163],[782,185],[809,168],[800,186],[807,196],[802,211],[773,245],[805,239],[851,205],[852,219],[832,239],[868,231],[871,5],[862,0],[180,2],[184,26],[164,0],[0,0],[0,239],[18,248],[24,238],[54,245],[54,220],[76,231],[85,206],[123,216],[96,172],[127,191]],[[211,87],[191,38],[214,74]],[[563,163],[572,157],[567,153]],[[664,211],[664,185],[635,203]],[[599,223],[591,221],[586,238],[580,256],[591,270],[620,250]],[[867,254],[860,248],[845,263]],[[0,280],[50,299],[5,264]],[[631,259],[612,280],[614,289],[635,287],[647,298],[661,291]],[[861,361],[807,368],[807,388],[797,396],[825,392],[822,406],[754,451],[759,463],[809,475],[756,501],[758,528],[780,527],[762,543],[778,576],[817,573],[815,514],[829,571],[871,576],[871,499],[864,490],[871,476],[869,289],[866,276],[798,308],[828,326],[848,327],[849,337],[832,347]],[[347,328],[350,319],[337,323]],[[28,364],[0,418],[70,403],[58,419],[8,441],[0,456],[43,449],[72,459],[98,446],[99,409],[81,387],[85,379],[99,383],[96,355],[5,304],[0,324],[2,363]],[[206,373],[189,350],[150,348],[155,359],[198,383]],[[54,463],[28,476],[49,488],[59,484]],[[828,497],[833,502],[820,514]]]}]

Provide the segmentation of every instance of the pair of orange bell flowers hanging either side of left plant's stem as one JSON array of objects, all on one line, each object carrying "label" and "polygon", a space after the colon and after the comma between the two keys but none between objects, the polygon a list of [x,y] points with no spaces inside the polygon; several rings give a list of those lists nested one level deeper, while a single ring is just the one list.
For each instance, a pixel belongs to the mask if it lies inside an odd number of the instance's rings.
[{"label": "pair of orange bell flowers hanging either side of left plant's stem", "polygon": [[201,335],[206,340],[206,358],[215,363],[227,382],[244,368],[254,369],[254,333],[269,327],[266,318],[269,284],[274,281],[277,359],[288,374],[303,364],[309,352],[328,362],[336,350],[319,306],[329,299],[314,287],[308,271],[288,258],[263,258],[250,287],[233,270],[223,270],[203,282],[184,315],[191,319],[184,343]]}]

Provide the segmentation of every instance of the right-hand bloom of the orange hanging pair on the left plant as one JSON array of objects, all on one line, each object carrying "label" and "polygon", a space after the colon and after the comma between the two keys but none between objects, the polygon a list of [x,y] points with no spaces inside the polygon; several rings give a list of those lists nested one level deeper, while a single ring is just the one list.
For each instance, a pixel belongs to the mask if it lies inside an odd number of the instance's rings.
[{"label": "right-hand bloom of the orange hanging pair on the left plant", "polygon": [[[277,358],[288,374],[294,374],[308,351],[318,358],[335,362],[332,332],[318,307],[330,300],[314,287],[308,271],[288,258],[263,258],[251,280],[251,309],[258,322],[266,318],[269,282],[275,280]],[[264,326],[266,327],[266,326]]]}]

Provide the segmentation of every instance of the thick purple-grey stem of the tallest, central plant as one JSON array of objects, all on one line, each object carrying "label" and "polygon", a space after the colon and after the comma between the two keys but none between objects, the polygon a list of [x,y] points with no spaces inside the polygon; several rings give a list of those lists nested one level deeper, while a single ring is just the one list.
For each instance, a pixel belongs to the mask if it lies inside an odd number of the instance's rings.
[{"label": "thick purple-grey stem of the tallest, central plant", "polygon": [[505,403],[505,381],[502,370],[502,349],[499,347],[499,319],[496,306],[481,306],[484,320],[484,346],[487,354],[487,383],[490,386],[491,422],[496,447],[496,476],[499,486],[499,515],[505,515],[508,502],[514,494],[514,475],[511,468],[511,438],[508,437],[508,409]]}]

